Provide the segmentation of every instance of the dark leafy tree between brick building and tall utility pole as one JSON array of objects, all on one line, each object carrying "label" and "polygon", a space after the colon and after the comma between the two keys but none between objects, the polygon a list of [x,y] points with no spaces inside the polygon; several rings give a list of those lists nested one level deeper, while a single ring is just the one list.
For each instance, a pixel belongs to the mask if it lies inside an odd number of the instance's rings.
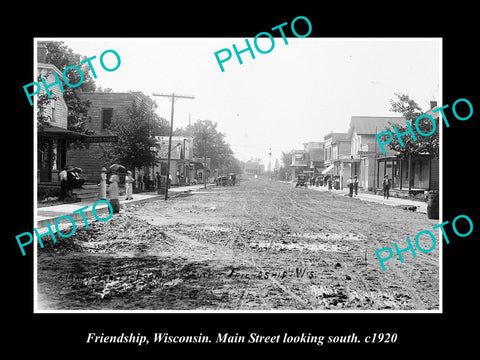
[{"label": "dark leafy tree between brick building and tall utility pole", "polygon": [[151,136],[153,110],[142,101],[135,101],[127,109],[127,116],[114,118],[110,130],[118,136],[118,142],[103,148],[106,163],[118,163],[135,172],[135,168],[156,164],[155,139]]}]

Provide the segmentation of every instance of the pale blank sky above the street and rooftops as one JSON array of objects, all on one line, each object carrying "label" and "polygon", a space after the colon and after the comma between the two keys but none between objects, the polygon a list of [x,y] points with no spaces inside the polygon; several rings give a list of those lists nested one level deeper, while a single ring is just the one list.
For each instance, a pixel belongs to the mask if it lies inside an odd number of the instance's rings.
[{"label": "pale blank sky above the street and rooftops", "polygon": [[[347,132],[358,115],[397,116],[389,111],[396,92],[414,99],[423,110],[431,100],[441,104],[442,43],[439,38],[274,38],[274,47],[261,54],[245,38],[39,38],[63,41],[88,57],[95,83],[115,92],[141,91],[170,120],[171,103],[154,93],[191,95],[175,102],[174,128],[211,120],[225,133],[235,156],[260,158],[265,165],[272,149],[272,166],[282,151],[302,149],[303,143],[323,141],[330,132]],[[258,41],[268,50],[267,37]],[[214,53],[232,52],[222,72]],[[113,49],[121,64],[102,69],[100,55]],[[226,52],[220,54],[223,58]],[[113,54],[104,57],[115,65]]]}]

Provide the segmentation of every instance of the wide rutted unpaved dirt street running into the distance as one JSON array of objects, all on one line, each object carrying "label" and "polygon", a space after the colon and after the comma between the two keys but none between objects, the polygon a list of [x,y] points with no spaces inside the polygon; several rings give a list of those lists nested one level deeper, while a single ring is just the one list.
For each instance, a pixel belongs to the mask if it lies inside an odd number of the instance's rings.
[{"label": "wide rutted unpaved dirt street running into the distance", "polygon": [[438,245],[417,258],[404,252],[405,263],[391,259],[386,271],[375,256],[437,223],[245,179],[129,205],[39,249],[38,309],[438,309]]}]

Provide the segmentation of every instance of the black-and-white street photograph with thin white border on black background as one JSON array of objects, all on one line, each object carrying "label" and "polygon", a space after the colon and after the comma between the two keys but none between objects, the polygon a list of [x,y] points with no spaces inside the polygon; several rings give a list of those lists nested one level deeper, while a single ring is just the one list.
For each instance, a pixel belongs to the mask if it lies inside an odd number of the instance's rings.
[{"label": "black-and-white street photograph with thin white border on black background", "polygon": [[301,20],[35,38],[35,312],[442,310],[442,39]]}]

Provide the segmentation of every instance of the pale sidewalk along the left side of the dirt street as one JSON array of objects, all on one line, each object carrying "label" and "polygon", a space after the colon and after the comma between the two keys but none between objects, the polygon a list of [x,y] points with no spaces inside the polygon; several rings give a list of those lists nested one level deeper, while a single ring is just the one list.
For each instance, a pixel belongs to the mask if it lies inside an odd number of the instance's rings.
[{"label": "pale sidewalk along the left side of the dirt street", "polygon": [[[214,185],[214,184],[213,184]],[[207,184],[207,188],[212,186],[212,184]],[[198,185],[190,185],[190,186],[179,186],[179,187],[171,187],[168,189],[168,195],[170,197],[175,197],[179,196],[180,194],[183,193],[189,193],[193,191],[199,191],[203,189],[204,185],[203,184],[198,184]],[[163,200],[165,198],[165,194],[157,194],[154,192],[151,193],[140,193],[140,194],[133,194],[133,200],[125,200],[125,196],[120,196],[120,207],[122,206],[128,206],[130,204],[141,204],[147,201],[151,200]],[[87,220],[93,220],[94,216],[92,214],[92,206],[93,204],[98,201],[98,200],[92,200],[92,201],[85,201],[85,202],[75,202],[75,203],[68,203],[68,204],[61,204],[61,205],[54,205],[54,206],[46,206],[42,208],[37,209],[37,226],[36,228],[38,230],[45,228],[46,224],[49,223],[52,229],[55,231],[55,221],[64,215],[68,215],[71,218],[75,220],[75,224],[84,224],[84,220],[82,218],[82,212],[85,214],[85,218]],[[88,207],[87,209],[84,209],[82,211],[78,211],[81,208]],[[77,213],[73,213],[74,211],[78,211]],[[108,213],[108,205],[104,202],[99,203],[98,205],[95,206],[95,213],[99,217],[107,217],[106,215]],[[65,219],[62,221],[62,224],[70,224],[68,219]],[[61,227],[60,227],[61,228]],[[41,233],[41,232],[40,232]]]}]

